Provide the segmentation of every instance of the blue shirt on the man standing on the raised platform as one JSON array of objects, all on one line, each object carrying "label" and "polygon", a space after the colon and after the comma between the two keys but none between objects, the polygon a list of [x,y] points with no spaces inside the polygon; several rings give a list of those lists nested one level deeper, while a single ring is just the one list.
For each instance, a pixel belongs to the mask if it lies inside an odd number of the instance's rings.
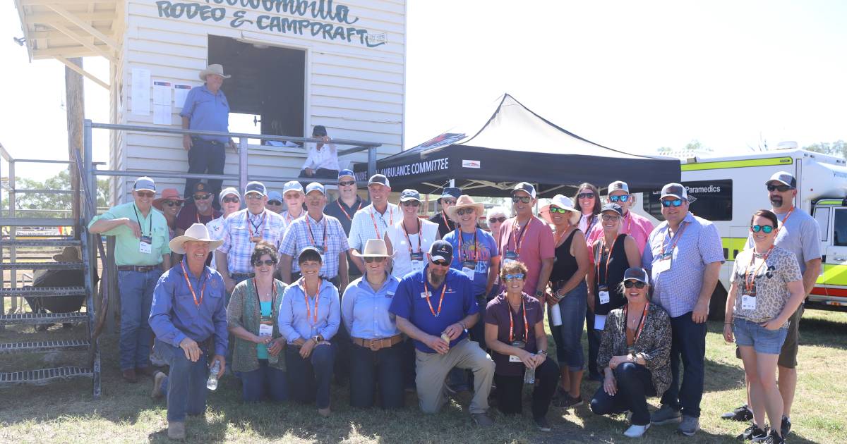
[{"label": "blue shirt on the man standing on the raised platform", "polygon": [[[226,100],[224,91],[218,90],[217,94],[212,94],[206,84],[195,86],[188,91],[180,116],[189,118],[188,129],[222,131],[224,133],[230,130],[230,102]],[[213,135],[198,137],[202,140],[214,140],[223,144],[230,141],[227,137]]]}]

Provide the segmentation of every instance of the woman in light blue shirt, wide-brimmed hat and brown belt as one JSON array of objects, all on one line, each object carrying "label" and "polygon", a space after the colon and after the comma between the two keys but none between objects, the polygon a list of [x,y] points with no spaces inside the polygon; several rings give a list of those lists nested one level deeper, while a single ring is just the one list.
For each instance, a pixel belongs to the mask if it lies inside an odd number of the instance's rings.
[{"label": "woman in light blue shirt, wide-brimmed hat and brown belt", "polygon": [[350,283],[341,299],[341,318],[353,343],[350,405],[372,407],[379,384],[382,408],[403,406],[402,336],[388,312],[400,280],[385,271],[385,241],[369,239],[363,253],[365,275]]}]

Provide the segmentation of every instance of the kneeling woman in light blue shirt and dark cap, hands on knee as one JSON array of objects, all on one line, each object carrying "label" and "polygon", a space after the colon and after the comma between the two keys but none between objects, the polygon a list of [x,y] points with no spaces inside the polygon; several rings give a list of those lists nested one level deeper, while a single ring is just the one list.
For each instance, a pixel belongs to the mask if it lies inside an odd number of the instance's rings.
[{"label": "kneeling woman in light blue shirt and dark cap, hands on knee", "polygon": [[335,364],[335,337],[341,311],[338,289],[320,277],[318,249],[308,246],[297,257],[302,277],[285,288],[280,306],[280,333],[288,343],[285,365],[291,397],[318,404],[329,416],[329,382]]}]

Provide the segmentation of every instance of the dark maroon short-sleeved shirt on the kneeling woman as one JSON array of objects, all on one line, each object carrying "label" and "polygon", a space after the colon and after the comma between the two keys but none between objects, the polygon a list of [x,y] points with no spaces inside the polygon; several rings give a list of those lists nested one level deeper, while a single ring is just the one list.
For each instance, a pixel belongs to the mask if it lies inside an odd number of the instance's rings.
[{"label": "dark maroon short-sleeved shirt on the kneeling woman", "polygon": [[[523,307],[527,310],[527,324],[529,328],[523,326],[523,310],[518,310],[518,313],[513,312],[509,308],[509,302],[506,299],[506,293],[501,293],[495,299],[491,299],[485,307],[485,323],[497,326],[497,340],[501,343],[510,343],[509,326],[512,325],[512,340],[523,340],[526,346],[523,348],[529,353],[538,351],[538,345],[535,343],[535,324],[544,320],[544,310],[541,310],[541,303],[538,299],[523,293]],[[511,312],[511,313],[510,313]],[[509,317],[512,317],[510,323]],[[523,339],[524,334],[527,335]],[[522,362],[509,362],[509,357],[506,354],[499,354],[491,351],[491,358],[494,359],[495,374],[503,376],[523,376],[523,371],[526,368]]]}]

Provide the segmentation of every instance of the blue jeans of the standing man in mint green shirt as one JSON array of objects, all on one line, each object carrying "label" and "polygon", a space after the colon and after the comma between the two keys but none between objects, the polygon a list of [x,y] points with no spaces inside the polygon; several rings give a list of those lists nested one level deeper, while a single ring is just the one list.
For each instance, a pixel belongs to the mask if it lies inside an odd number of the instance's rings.
[{"label": "blue jeans of the standing man in mint green shirt", "polygon": [[150,305],[162,271],[118,271],[120,293],[120,370],[144,368],[150,365]]}]

